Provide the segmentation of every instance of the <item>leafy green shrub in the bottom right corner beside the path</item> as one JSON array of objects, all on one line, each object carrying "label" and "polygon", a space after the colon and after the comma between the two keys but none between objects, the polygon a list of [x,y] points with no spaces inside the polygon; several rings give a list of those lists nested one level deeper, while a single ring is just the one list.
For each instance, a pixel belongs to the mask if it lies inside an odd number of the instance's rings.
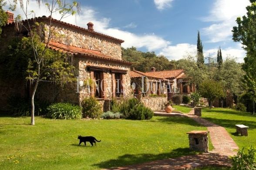
[{"label": "leafy green shrub in the bottom right corner beside the path", "polygon": [[256,148],[250,147],[239,149],[237,155],[231,157],[235,170],[255,170],[256,169]]}]

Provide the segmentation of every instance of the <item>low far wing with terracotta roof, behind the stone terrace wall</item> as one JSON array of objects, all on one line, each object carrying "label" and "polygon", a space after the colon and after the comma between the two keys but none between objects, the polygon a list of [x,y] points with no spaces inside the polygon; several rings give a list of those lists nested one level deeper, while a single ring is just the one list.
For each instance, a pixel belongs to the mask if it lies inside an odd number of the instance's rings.
[{"label": "low far wing with terracotta roof, behind the stone terrace wall", "polygon": [[[135,74],[137,73],[137,74]],[[138,74],[139,73],[139,74]],[[155,82],[158,82],[155,86],[154,82],[149,83],[150,85],[153,85],[156,87],[158,90],[153,91],[156,92],[154,94],[161,95],[161,87],[164,92],[164,94],[167,94],[168,100],[170,97],[175,94],[182,94],[182,95],[189,95],[191,92],[195,92],[195,85],[187,85],[188,79],[186,78],[185,75],[185,70],[183,69],[177,69],[177,70],[163,70],[163,71],[156,71],[155,67],[151,68],[150,72],[138,72],[138,71],[131,71],[131,78],[141,78],[139,77],[141,75],[144,77],[148,77],[149,80],[153,79]],[[162,85],[159,83],[161,81]],[[150,82],[150,81],[149,81]],[[133,82],[131,82],[132,84]],[[151,89],[152,87],[150,87]],[[160,89],[160,90],[159,90]],[[148,94],[152,93],[152,91],[148,92]]]}]

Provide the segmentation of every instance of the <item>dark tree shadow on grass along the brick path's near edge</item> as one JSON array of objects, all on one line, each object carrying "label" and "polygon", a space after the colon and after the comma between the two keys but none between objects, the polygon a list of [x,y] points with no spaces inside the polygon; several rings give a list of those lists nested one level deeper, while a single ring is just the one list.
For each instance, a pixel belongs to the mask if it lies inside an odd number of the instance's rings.
[{"label": "dark tree shadow on grass along the brick path's near edge", "polygon": [[111,167],[124,167],[128,165],[133,165],[137,163],[145,163],[154,160],[163,160],[174,157],[182,157],[184,155],[196,154],[194,151],[189,150],[189,148],[178,148],[172,150],[170,153],[165,154],[125,154],[119,156],[117,159],[110,159],[100,163],[93,164],[101,169],[111,168]]}]

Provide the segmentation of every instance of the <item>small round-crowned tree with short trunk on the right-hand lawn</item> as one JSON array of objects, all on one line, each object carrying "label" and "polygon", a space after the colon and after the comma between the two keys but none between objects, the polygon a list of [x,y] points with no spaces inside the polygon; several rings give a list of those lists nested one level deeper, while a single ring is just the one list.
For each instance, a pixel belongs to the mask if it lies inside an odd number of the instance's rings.
[{"label": "small round-crowned tree with short trunk on the right-hand lawn", "polygon": [[209,109],[212,108],[212,101],[214,101],[215,98],[224,98],[226,96],[223,86],[214,80],[203,81],[199,85],[199,93],[202,97],[208,99]]}]

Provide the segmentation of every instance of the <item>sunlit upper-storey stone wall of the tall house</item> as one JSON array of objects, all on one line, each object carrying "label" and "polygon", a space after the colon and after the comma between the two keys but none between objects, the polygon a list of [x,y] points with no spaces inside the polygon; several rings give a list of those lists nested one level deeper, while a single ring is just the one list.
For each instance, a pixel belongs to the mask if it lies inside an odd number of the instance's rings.
[{"label": "sunlit upper-storey stone wall of the tall house", "polygon": [[[89,34],[83,31],[77,31],[72,29],[70,26],[59,26],[52,24],[52,28],[55,28],[55,35],[52,42],[57,42],[65,45],[70,45],[83,49],[90,49],[95,51],[100,51],[106,56],[113,57],[115,59],[121,59],[121,43],[111,41],[110,39],[99,37],[96,34]],[[49,25],[44,25],[47,30],[45,35],[49,34]],[[47,39],[47,37],[46,37]]]}]

